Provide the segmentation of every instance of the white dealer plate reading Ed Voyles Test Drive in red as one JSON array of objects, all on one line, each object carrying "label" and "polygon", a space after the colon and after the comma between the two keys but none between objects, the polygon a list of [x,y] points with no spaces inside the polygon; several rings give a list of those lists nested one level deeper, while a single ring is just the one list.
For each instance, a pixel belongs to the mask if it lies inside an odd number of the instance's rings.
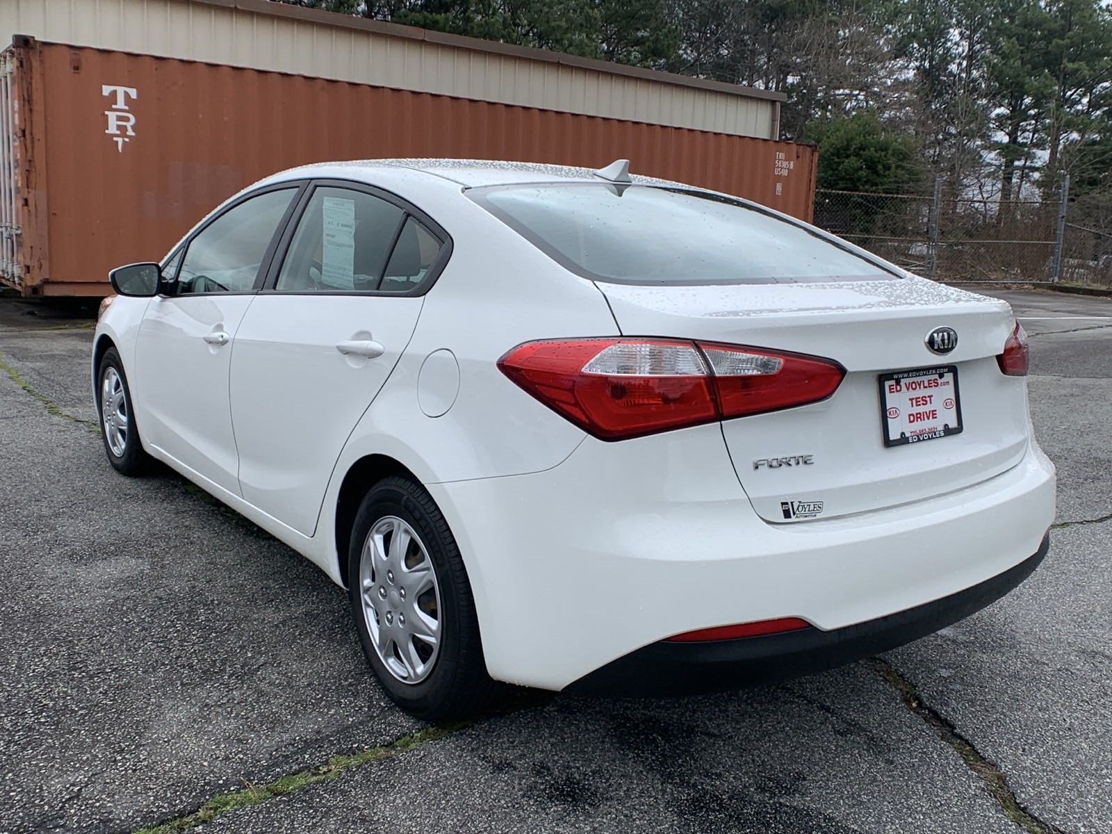
[{"label": "white dealer plate reading Ed Voyles Test Drive in red", "polygon": [[885,446],[961,433],[962,401],[955,366],[881,374],[880,383]]}]

